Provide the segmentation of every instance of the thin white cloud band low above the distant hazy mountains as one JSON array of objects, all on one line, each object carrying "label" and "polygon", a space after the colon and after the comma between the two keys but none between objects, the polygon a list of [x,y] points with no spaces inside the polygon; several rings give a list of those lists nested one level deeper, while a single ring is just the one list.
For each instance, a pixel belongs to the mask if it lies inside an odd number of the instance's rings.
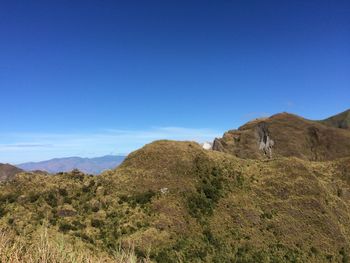
[{"label": "thin white cloud band low above the distant hazy mountains", "polygon": [[87,133],[0,134],[0,163],[40,161],[54,157],[127,154],[154,140],[211,141],[222,132],[207,128],[153,127],[105,129]]}]

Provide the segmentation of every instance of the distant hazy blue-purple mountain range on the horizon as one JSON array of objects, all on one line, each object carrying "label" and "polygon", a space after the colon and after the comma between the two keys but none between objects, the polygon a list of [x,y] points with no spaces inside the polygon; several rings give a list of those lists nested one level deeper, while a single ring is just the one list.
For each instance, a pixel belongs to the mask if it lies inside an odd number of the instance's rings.
[{"label": "distant hazy blue-purple mountain range on the horizon", "polygon": [[104,170],[117,167],[123,160],[124,156],[106,155],[96,158],[55,158],[43,162],[30,162],[17,165],[26,171],[42,170],[49,173],[69,172],[78,169],[88,174],[99,174]]}]

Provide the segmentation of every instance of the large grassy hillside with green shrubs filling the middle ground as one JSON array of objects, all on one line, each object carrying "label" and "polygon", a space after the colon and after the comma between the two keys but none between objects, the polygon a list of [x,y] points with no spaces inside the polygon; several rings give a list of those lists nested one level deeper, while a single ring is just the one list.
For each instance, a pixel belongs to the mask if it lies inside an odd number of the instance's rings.
[{"label": "large grassy hillside with green shrubs filling the middle ground", "polygon": [[146,145],[98,177],[0,186],[0,225],[28,244],[44,225],[94,255],[133,247],[153,262],[349,262],[349,206],[349,158],[244,160],[194,142]]}]

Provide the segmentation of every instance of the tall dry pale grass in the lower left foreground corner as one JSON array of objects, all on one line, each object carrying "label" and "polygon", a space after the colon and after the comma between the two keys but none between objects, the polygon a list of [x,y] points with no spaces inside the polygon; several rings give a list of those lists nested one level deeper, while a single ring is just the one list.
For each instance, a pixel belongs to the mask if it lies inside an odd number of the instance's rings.
[{"label": "tall dry pale grass in the lower left foreground corner", "polygon": [[0,229],[0,263],[137,263],[132,248],[116,251],[115,255],[99,253],[72,246],[68,242],[52,240],[46,228],[36,240],[26,242],[12,232]]}]

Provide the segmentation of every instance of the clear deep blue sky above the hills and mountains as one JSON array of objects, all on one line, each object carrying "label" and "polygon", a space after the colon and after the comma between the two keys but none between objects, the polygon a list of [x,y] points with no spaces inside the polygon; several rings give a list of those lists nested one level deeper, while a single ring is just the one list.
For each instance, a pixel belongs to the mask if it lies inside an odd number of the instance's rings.
[{"label": "clear deep blue sky above the hills and mountains", "polygon": [[0,1],[0,162],[350,105],[350,1]]}]

